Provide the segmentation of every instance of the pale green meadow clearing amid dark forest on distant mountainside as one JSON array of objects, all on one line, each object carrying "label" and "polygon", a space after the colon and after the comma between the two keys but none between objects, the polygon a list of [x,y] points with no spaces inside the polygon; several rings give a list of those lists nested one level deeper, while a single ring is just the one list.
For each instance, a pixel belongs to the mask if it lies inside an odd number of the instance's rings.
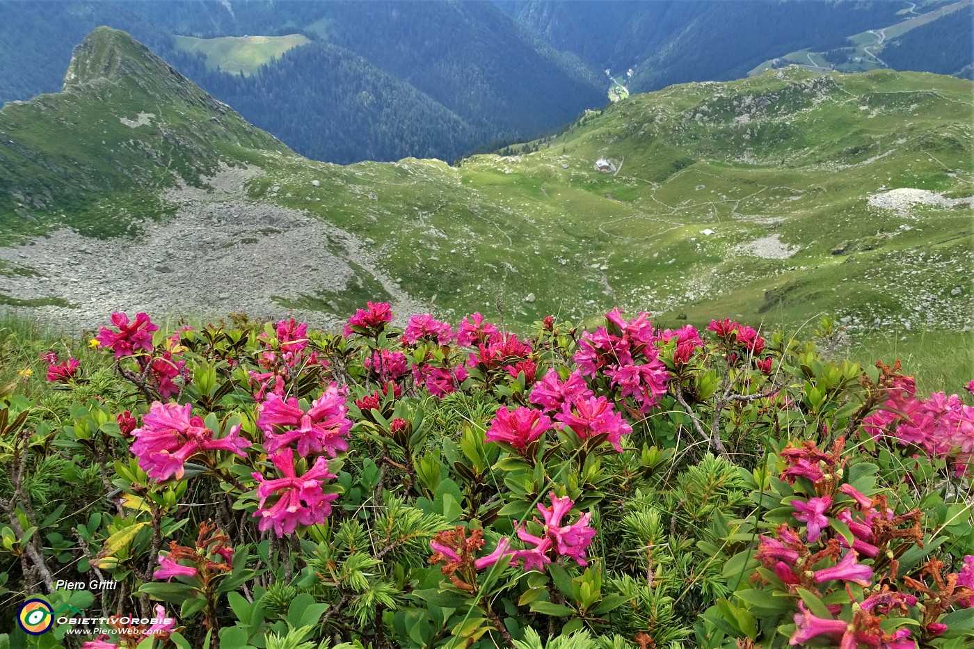
[{"label": "pale green meadow clearing amid dark forest on distant mountainside", "polygon": [[220,36],[196,38],[174,36],[176,47],[189,54],[206,57],[210,70],[243,74],[256,74],[261,65],[269,65],[291,48],[308,45],[311,41],[304,34],[288,36]]}]

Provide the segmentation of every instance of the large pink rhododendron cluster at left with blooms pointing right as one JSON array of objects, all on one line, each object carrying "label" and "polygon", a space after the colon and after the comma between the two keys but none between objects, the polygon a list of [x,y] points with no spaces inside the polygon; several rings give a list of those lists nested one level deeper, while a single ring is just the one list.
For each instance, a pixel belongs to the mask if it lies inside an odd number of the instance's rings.
[{"label": "large pink rhododendron cluster at left with blooms pointing right", "polygon": [[194,455],[212,450],[226,450],[246,457],[244,448],[250,442],[240,437],[240,424],[227,437],[213,439],[213,432],[200,417],[191,417],[192,406],[155,401],[142,417],[141,428],[132,431],[135,442],[131,452],[138,466],[149,477],[165,480],[183,476],[183,465]]}]

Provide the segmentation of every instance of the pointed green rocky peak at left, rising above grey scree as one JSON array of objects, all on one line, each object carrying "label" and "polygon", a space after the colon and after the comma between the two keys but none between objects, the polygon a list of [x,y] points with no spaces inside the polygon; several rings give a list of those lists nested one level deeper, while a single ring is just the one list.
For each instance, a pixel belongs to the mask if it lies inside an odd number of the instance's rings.
[{"label": "pointed green rocky peak at left, rising above grey scree", "polygon": [[8,232],[61,213],[85,230],[124,230],[126,218],[97,206],[124,192],[124,213],[157,212],[159,189],[199,184],[256,149],[287,151],[125,32],[100,27],[75,48],[61,93],[0,110],[0,205]]}]

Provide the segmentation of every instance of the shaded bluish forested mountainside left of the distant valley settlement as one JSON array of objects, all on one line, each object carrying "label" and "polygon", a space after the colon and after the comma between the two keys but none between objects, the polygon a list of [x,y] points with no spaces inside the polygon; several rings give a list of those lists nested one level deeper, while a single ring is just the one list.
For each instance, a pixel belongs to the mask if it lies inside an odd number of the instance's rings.
[{"label": "shaded bluish forested mountainside left of the distant valley settlement", "polygon": [[[453,160],[485,142],[551,131],[605,102],[581,61],[492,3],[264,0],[0,0],[0,101],[54,92],[70,45],[101,24],[131,32],[247,120],[330,162]],[[199,41],[174,38],[294,33],[313,44],[245,78],[219,72],[227,61],[199,55]]]}]

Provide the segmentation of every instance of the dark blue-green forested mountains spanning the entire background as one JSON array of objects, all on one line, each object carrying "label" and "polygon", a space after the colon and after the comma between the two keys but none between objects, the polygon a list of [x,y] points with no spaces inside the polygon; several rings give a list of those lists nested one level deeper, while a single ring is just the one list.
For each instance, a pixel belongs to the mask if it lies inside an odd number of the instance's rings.
[{"label": "dark blue-green forested mountains spanning the entire background", "polygon": [[[549,134],[607,103],[603,70],[630,89],[744,76],[802,48],[836,50],[895,23],[905,3],[298,2],[0,0],[0,102],[60,90],[74,45],[125,30],[248,121],[311,158],[456,160]],[[970,74],[970,10],[908,32],[883,53],[897,69]],[[173,35],[304,34],[251,77],[222,74]],[[841,56],[837,52],[835,55]]]}]

